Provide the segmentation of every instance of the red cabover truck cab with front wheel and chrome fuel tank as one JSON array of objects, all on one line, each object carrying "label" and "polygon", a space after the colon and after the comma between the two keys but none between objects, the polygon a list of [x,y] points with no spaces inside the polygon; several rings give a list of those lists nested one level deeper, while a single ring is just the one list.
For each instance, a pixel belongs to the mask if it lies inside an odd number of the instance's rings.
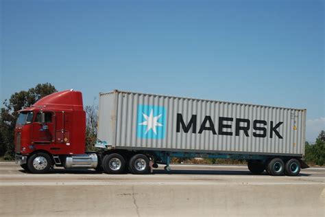
[{"label": "red cabover truck cab with front wheel and chrome fuel tank", "polygon": [[85,152],[86,113],[79,91],[47,95],[19,111],[14,141],[16,161],[32,173],[53,165],[97,167],[97,155]]}]

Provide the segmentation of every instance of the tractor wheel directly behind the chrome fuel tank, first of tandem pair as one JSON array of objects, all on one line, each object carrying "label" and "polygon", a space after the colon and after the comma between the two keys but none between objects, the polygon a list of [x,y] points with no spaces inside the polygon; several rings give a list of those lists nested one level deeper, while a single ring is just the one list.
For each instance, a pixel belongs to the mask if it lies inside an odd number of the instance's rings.
[{"label": "tractor wheel directly behind the chrome fuel tank, first of tandem pair", "polygon": [[125,168],[125,159],[116,153],[105,155],[101,165],[108,174],[121,174]]}]

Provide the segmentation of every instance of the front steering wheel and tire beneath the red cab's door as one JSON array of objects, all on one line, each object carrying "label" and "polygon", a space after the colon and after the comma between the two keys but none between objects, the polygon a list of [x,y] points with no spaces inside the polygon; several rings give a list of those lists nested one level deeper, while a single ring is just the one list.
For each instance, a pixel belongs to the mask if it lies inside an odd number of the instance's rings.
[{"label": "front steering wheel and tire beneath the red cab's door", "polygon": [[52,160],[47,153],[39,152],[28,158],[27,168],[30,172],[43,174],[49,172]]}]

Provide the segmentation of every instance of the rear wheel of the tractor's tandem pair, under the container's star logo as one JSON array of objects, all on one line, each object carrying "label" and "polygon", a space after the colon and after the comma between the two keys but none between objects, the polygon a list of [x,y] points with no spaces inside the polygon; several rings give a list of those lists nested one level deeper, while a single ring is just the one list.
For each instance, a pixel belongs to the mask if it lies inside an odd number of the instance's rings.
[{"label": "rear wheel of the tractor's tandem pair, under the container's star logo", "polygon": [[129,170],[133,174],[147,174],[149,168],[149,159],[143,154],[134,155],[129,161]]}]

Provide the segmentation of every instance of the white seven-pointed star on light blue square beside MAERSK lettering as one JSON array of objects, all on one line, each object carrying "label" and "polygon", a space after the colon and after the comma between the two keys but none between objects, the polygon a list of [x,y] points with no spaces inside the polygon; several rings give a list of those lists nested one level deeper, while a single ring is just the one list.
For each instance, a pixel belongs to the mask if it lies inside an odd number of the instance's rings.
[{"label": "white seven-pointed star on light blue square beside MAERSK lettering", "polygon": [[138,106],[138,138],[163,139],[166,129],[166,111],[163,106]]}]

